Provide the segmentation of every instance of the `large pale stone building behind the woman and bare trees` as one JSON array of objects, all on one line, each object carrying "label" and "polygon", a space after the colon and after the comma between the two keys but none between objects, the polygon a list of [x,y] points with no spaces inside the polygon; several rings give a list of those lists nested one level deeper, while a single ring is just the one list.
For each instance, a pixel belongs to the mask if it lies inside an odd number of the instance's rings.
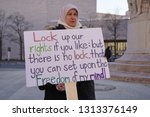
[{"label": "large pale stone building behind the woman and bare trees", "polygon": [[[30,30],[43,30],[47,25],[56,25],[59,11],[67,3],[75,4],[79,8],[79,19],[83,25],[103,28],[106,46],[114,44],[111,34],[106,28],[106,23],[102,21],[105,14],[96,13],[96,0],[0,0],[0,10],[3,9],[7,16],[14,12],[19,12],[25,17],[26,21],[33,24]],[[125,25],[127,25],[127,21],[125,21]],[[126,27],[125,30],[123,27],[123,31],[120,32],[123,37],[118,38],[118,40],[121,39],[121,44],[118,41],[119,45],[117,46],[119,51],[124,50],[126,46]],[[3,60],[8,59],[8,49],[11,50],[9,52],[10,59],[19,59],[19,44],[9,39],[3,39],[2,46]]]}]

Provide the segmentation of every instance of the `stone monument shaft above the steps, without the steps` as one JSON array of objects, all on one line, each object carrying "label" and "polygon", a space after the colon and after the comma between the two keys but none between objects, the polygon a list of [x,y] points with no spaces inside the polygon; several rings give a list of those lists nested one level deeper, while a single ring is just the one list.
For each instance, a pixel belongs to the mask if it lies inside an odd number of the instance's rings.
[{"label": "stone monument shaft above the steps, without the steps", "polygon": [[[137,6],[140,6],[137,1],[141,1],[141,11],[137,9]],[[149,2],[149,0],[128,0],[131,19],[128,22],[127,50],[124,56],[117,60],[118,62],[150,63]]]}]

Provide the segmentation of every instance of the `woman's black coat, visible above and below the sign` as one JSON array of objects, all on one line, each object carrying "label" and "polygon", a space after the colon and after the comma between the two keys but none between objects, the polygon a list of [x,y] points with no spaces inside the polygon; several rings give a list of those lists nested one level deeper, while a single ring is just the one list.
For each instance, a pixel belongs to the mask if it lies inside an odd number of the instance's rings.
[{"label": "woman's black coat, visible above and below the sign", "polygon": [[[58,25],[53,30],[65,29],[63,25]],[[45,100],[66,100],[66,92],[58,91],[56,85],[47,83],[39,86],[40,90],[45,90]],[[79,100],[95,100],[94,81],[77,82],[77,92]]]}]

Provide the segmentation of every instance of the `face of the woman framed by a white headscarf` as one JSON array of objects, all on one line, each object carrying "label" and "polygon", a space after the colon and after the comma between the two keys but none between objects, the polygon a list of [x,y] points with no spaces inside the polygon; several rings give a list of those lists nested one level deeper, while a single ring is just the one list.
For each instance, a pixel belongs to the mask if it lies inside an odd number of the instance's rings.
[{"label": "face of the woman framed by a white headscarf", "polygon": [[75,27],[78,19],[78,13],[75,9],[70,9],[66,14],[65,21],[71,27]]}]

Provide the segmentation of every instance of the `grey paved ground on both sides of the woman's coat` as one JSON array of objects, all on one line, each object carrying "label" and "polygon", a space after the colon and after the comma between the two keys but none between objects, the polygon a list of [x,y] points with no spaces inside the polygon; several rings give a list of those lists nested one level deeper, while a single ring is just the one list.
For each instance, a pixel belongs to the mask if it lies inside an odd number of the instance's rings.
[{"label": "grey paved ground on both sides of the woman's coat", "polygon": [[[44,92],[25,86],[24,68],[0,68],[1,100],[43,100]],[[97,100],[149,100],[150,84],[112,80],[95,81]]]}]

